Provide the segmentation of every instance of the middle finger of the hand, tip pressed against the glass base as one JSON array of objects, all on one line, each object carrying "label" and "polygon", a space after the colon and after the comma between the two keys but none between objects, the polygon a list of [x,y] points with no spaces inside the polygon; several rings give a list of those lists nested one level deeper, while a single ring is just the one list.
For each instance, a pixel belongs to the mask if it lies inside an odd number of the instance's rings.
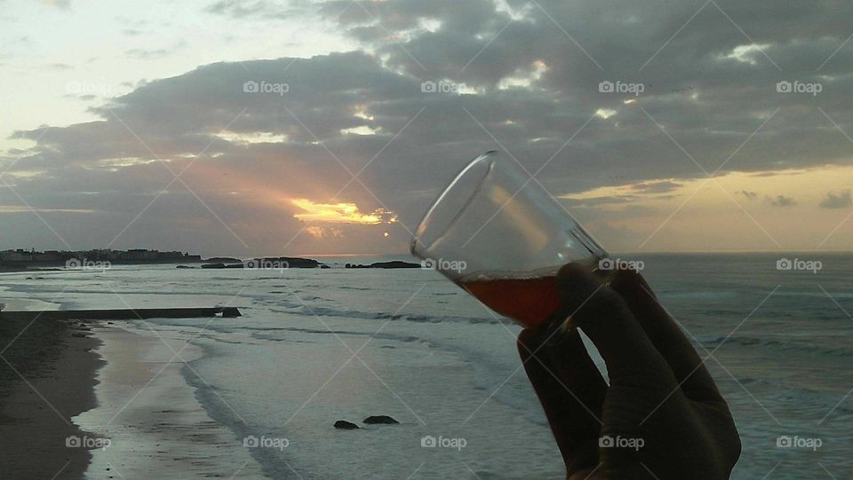
[{"label": "middle finger of the hand, tip pressed against the glass base", "polygon": [[563,309],[594,342],[607,364],[610,384],[672,390],[672,370],[650,342],[622,297],[588,268],[567,264],[557,276]]}]

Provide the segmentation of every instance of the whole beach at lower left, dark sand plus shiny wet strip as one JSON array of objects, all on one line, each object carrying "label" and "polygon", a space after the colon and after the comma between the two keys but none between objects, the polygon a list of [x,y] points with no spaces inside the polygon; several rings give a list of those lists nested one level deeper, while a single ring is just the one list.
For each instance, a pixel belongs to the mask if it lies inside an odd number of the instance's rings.
[{"label": "whole beach at lower left, dark sand plus shiny wet strip", "polygon": [[3,322],[0,478],[263,476],[187,383],[184,360],[202,356],[190,337],[140,333],[106,322]]}]

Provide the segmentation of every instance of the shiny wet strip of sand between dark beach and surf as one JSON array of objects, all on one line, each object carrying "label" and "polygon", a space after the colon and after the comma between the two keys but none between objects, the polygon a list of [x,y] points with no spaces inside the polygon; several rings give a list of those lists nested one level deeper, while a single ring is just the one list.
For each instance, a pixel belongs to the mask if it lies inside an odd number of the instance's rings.
[{"label": "shiny wet strip of sand between dark beach and surf", "polygon": [[74,421],[103,432],[110,444],[92,451],[87,476],[165,478],[176,471],[187,477],[263,476],[243,438],[198,401],[205,387],[187,382],[185,361],[203,357],[200,347],[187,343],[193,335],[157,336],[141,321],[92,327],[105,361],[94,389],[98,405]]}]

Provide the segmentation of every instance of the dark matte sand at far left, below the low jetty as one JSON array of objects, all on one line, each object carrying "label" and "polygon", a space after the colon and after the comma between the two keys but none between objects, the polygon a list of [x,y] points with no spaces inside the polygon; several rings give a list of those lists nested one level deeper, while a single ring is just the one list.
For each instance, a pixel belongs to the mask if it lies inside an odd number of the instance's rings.
[{"label": "dark matte sand at far left, below the low jetty", "polygon": [[84,444],[99,440],[72,419],[97,406],[100,340],[82,323],[65,321],[4,322],[0,340],[4,476],[83,477],[92,459]]}]

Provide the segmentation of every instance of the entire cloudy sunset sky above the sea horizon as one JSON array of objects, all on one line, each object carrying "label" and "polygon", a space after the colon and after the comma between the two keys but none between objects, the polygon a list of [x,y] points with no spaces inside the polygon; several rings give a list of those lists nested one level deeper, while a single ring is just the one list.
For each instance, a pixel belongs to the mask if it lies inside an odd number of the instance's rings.
[{"label": "entire cloudy sunset sky above the sea horizon", "polygon": [[611,251],[849,251],[850,18],[841,0],[0,0],[0,248],[402,254],[498,150]]}]

